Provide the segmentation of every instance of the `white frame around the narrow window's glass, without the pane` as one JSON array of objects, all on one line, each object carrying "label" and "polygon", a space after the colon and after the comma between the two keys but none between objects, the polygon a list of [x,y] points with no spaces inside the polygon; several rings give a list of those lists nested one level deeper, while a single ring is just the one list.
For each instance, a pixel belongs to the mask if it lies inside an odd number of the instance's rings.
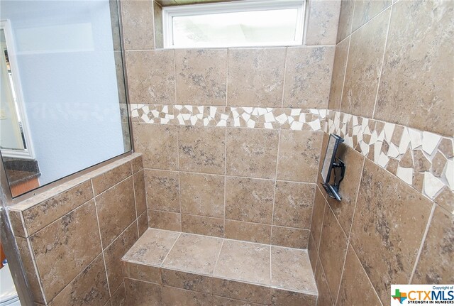
[{"label": "white frame around the narrow window's glass, without the pane", "polygon": [[[173,18],[196,16],[213,13],[236,13],[245,11],[269,11],[277,9],[297,9],[297,26],[294,40],[261,43],[226,43],[212,45],[199,43],[196,45],[175,46],[173,42]],[[162,34],[165,49],[179,48],[232,48],[232,47],[267,47],[279,45],[302,45],[306,18],[306,0],[259,0],[232,1],[212,4],[191,4],[184,6],[165,6],[162,8]]]}]

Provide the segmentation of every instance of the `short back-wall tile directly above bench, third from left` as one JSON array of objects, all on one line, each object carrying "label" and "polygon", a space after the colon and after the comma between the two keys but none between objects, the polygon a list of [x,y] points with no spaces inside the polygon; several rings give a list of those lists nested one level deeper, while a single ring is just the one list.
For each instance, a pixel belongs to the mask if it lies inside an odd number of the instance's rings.
[{"label": "short back-wall tile directly above bench, third from left", "polygon": [[228,239],[270,244],[271,226],[267,224],[226,220],[225,230]]}]

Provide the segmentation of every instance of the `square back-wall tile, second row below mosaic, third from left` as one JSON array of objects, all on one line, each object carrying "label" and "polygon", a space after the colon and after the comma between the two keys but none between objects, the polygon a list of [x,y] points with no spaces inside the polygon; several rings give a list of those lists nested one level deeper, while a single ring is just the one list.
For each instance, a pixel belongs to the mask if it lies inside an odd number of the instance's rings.
[{"label": "square back-wall tile, second row below mosaic, third from left", "polygon": [[226,219],[271,224],[272,180],[226,177]]}]

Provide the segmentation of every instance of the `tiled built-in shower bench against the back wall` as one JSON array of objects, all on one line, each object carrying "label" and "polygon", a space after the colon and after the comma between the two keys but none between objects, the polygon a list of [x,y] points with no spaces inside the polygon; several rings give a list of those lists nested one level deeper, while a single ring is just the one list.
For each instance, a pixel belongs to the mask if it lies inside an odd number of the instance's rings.
[{"label": "tiled built-in shower bench against the back wall", "polygon": [[128,306],[316,305],[306,250],[148,229],[122,261]]}]

